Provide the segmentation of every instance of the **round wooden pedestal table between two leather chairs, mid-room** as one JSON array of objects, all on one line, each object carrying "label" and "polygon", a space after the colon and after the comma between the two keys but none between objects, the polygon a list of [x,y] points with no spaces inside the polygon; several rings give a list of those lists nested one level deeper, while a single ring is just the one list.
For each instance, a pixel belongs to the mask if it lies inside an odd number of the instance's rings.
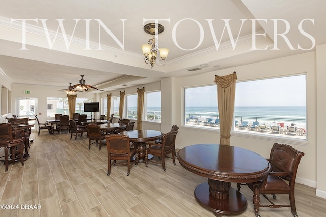
[{"label": "round wooden pedestal table between two leather chairs, mid-room", "polygon": [[[164,133],[156,130],[131,130],[123,131],[120,134],[129,136],[130,142],[133,142],[138,151],[138,161],[145,161],[146,142],[161,139]],[[148,156],[151,159],[153,156]]]}]

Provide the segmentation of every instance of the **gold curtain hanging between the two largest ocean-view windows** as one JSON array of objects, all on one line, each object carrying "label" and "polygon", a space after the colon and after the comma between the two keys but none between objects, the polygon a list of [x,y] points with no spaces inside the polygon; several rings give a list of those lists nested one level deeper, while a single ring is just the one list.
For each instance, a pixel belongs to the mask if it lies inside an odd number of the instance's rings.
[{"label": "gold curtain hanging between the two largest ocean-view windows", "polygon": [[215,83],[218,85],[218,107],[220,117],[220,144],[230,145],[231,127],[234,113],[235,98],[235,81],[236,73],[217,76],[215,75]]}]

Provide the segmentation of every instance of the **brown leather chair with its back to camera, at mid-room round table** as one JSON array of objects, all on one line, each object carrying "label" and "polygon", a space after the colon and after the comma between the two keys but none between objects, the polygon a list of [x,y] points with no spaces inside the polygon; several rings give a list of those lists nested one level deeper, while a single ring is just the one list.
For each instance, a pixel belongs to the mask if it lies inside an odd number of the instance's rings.
[{"label": "brown leather chair with its back to camera, at mid-room round table", "polygon": [[[130,174],[130,166],[138,164],[138,154],[135,148],[130,147],[129,136],[120,135],[120,134],[110,134],[106,135],[106,147],[107,147],[107,156],[108,156],[108,170],[107,175],[111,173],[111,165],[115,166],[116,164],[127,164],[128,173]],[[131,158],[135,156],[135,161],[130,164]],[[111,163],[111,160],[113,162]],[[127,161],[117,163],[117,160]]]}]

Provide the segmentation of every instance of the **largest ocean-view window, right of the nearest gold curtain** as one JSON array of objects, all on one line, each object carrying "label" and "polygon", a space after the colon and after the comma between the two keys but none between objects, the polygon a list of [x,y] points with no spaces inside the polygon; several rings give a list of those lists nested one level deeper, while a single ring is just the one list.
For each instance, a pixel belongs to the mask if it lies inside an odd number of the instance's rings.
[{"label": "largest ocean-view window, right of the nearest gold curtain", "polygon": [[306,139],[306,75],[237,82],[234,119],[235,131]]}]

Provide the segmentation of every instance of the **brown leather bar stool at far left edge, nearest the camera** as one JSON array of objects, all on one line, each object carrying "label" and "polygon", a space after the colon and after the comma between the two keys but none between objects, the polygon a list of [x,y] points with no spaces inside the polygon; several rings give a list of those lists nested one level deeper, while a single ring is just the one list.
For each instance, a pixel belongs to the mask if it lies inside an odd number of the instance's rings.
[{"label": "brown leather bar stool at far left edge, nearest the camera", "polygon": [[5,157],[6,172],[10,161],[14,164],[16,159],[20,159],[21,165],[24,166],[24,139],[13,138],[11,123],[0,124],[0,147],[4,148],[5,155],[0,158]]}]

